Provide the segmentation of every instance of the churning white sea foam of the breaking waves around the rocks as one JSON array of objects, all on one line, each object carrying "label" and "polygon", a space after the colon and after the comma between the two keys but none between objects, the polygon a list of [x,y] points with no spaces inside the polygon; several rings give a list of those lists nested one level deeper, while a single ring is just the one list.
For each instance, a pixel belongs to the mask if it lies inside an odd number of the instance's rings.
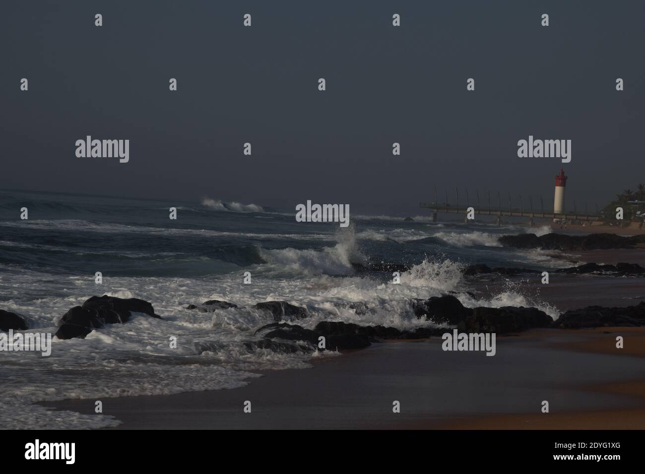
[{"label": "churning white sea foam of the breaking waves around the rocks", "polygon": [[[466,293],[468,287],[462,278],[461,264],[447,258],[426,259],[408,272],[402,272],[400,284],[355,274],[352,263],[366,260],[361,244],[375,245],[373,242],[390,239],[406,242],[435,235],[453,246],[499,246],[492,233],[443,228],[433,234],[443,224],[423,226],[423,230],[395,224],[397,228],[391,230],[363,229],[361,232],[355,232],[352,225],[336,233],[317,235],[163,229],[79,220],[0,223],[3,225],[104,233],[178,236],[196,233],[233,239],[243,236],[333,242],[332,246],[321,244],[319,248],[261,249],[266,264],[208,278],[109,277],[100,286],[87,275],[68,277],[18,266],[0,266],[0,295],[5,300],[2,308],[24,315],[32,330],[54,332],[66,311],[95,294],[150,301],[155,312],[163,317],[163,320],[157,320],[135,315],[126,324],[107,325],[93,331],[86,339],[54,339],[52,355],[48,358],[3,357],[0,416],[12,423],[7,428],[97,428],[117,423],[103,415],[88,417],[52,412],[25,402],[234,388],[248,383],[256,376],[252,373],[255,370],[305,368],[311,357],[334,355],[250,350],[244,343],[257,339],[255,330],[273,322],[273,317],[266,311],[253,308],[261,301],[284,300],[306,308],[310,317],[298,322],[306,328],[332,320],[381,324],[400,330],[433,326],[433,322],[417,319],[410,302],[449,291],[469,307],[536,306],[512,290],[491,301],[475,301]],[[290,245],[297,247],[295,243],[290,242]],[[494,249],[478,251],[499,252]],[[518,252],[517,255],[520,259],[523,254]],[[246,270],[252,273],[250,285],[242,283]],[[184,309],[186,304],[199,304],[209,299],[233,302],[239,308],[212,313]],[[557,316],[553,308],[537,307]],[[170,335],[177,337],[176,349],[170,349]],[[37,425],[33,424],[34,420],[38,420]]]}]

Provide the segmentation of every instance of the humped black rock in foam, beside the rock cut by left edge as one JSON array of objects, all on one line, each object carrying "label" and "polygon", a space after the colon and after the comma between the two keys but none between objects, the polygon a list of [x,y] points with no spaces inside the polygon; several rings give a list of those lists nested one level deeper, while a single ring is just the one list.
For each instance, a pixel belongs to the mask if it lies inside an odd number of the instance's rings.
[{"label": "humped black rock in foam, beside the rock cut by left edge", "polygon": [[75,306],[63,315],[56,336],[59,339],[85,337],[92,330],[102,328],[105,324],[123,324],[129,321],[132,313],[143,313],[161,319],[161,316],[155,314],[152,304],[147,301],[107,295],[93,296],[84,302],[83,306]]}]

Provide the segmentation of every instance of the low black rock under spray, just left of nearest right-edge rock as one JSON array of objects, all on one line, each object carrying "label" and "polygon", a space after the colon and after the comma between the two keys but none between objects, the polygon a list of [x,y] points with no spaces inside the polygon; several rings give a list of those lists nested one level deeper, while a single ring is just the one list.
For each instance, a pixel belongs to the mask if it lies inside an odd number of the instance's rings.
[{"label": "low black rock under spray, just left of nearest right-edge rock", "polygon": [[531,328],[547,328],[553,319],[537,308],[503,306],[502,308],[473,309],[471,316],[458,324],[458,329],[468,333],[494,332],[497,334],[525,331]]}]

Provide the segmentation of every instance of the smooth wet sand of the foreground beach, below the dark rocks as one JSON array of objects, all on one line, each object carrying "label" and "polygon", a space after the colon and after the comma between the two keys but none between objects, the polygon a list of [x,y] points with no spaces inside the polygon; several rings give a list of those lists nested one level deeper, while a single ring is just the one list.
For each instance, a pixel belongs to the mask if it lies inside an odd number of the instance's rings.
[{"label": "smooth wet sand of the foreground beach, below the dark rocks", "polygon": [[[643,337],[631,328],[618,331],[626,346]],[[613,332],[533,330],[499,337],[494,357],[442,351],[438,338],[388,341],[321,359],[309,370],[265,371],[243,388],[102,399],[103,409],[123,422],[116,429],[526,428],[533,419],[539,424],[531,428],[576,428],[586,420],[601,429],[605,412],[617,420],[625,413],[626,428],[645,429],[642,384],[626,384],[645,380],[642,353],[569,347],[611,341]],[[252,413],[243,412],[245,400]],[[393,413],[394,400],[401,413]],[[551,413],[541,413],[542,400]],[[43,405],[94,413],[94,400]]]}]

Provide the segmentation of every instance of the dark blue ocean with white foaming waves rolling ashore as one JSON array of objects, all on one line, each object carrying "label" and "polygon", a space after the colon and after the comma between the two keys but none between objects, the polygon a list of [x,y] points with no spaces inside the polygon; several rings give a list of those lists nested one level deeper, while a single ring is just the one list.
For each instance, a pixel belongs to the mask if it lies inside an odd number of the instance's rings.
[{"label": "dark blue ocean with white foaming waves rolling ashore", "polygon": [[[20,219],[21,208],[28,219]],[[177,219],[169,219],[169,209]],[[502,234],[550,232],[548,226],[431,222],[350,214],[350,226],[296,222],[295,210],[259,204],[168,202],[119,197],[0,191],[0,309],[25,317],[29,331],[55,333],[61,317],[92,295],[150,301],[163,319],[135,315],[85,339],[52,342],[52,355],[0,353],[0,419],[4,428],[100,428],[117,420],[97,413],[50,411],[34,402],[162,395],[235,388],[253,371],[308,368],[313,357],[250,348],[273,317],[252,306],[287,301],[306,307],[297,324],[323,320],[412,330],[433,326],[410,302],[452,293],[468,307],[535,306],[517,284],[477,299],[462,275],[468,264],[550,270],[559,259],[538,250],[502,247]],[[406,265],[400,284],[374,264]],[[95,282],[101,272],[103,282]],[[250,283],[244,283],[244,273]],[[248,278],[247,278],[248,280]],[[186,309],[210,299],[238,308]],[[369,311],[355,309],[356,302]],[[170,340],[176,338],[177,347]]]}]

